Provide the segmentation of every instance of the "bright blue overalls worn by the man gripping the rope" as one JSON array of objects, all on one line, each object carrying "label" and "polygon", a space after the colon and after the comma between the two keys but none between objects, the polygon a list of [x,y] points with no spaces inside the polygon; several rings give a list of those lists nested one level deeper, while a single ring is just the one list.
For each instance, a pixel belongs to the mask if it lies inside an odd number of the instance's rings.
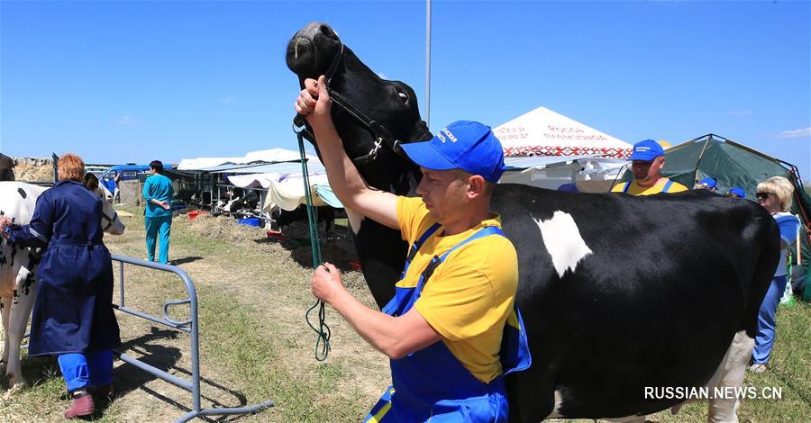
[{"label": "bright blue overalls worn by the man gripping the rope", "polygon": [[[439,223],[434,224],[409,248],[401,279],[405,277],[405,272],[416,252],[439,228]],[[496,227],[479,229],[444,253],[442,257],[433,257],[415,287],[396,287],[395,297],[383,308],[383,312],[391,316],[404,315],[420,297],[434,269],[440,266],[453,250],[474,239],[490,235],[504,236],[504,232]],[[391,360],[393,385],[369,411],[364,421],[409,423],[428,419],[442,422],[506,421],[508,407],[504,375],[524,370],[532,363],[524,321],[521,320],[517,306],[514,306],[504,326],[499,356],[503,373],[490,383],[483,383],[470,374],[442,341],[401,359]]]}]

